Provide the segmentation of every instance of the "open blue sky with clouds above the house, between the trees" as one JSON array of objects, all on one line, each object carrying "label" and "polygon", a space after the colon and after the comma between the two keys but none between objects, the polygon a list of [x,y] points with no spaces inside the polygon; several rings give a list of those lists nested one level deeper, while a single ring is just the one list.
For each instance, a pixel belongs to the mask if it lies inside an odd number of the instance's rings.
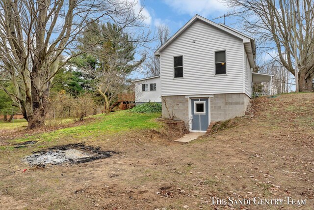
[{"label": "open blue sky with clouds above the house, between the trees", "polygon": [[[226,14],[229,10],[225,3],[218,0],[137,0],[137,6],[143,6],[143,15],[147,17],[144,21],[152,31],[158,25],[166,25],[170,29],[170,36],[177,32],[194,15],[201,15],[216,23],[223,23],[223,18],[213,18]],[[225,24],[236,28],[233,19],[227,17]],[[154,48],[157,42],[151,43]],[[153,50],[152,50],[153,54]],[[144,75],[135,73],[134,78],[144,78]]]}]

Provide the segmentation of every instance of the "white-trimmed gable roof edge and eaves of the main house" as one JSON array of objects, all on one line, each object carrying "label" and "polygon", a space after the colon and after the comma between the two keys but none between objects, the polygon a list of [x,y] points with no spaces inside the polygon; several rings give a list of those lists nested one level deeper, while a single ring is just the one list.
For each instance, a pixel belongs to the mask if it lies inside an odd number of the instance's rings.
[{"label": "white-trimmed gable roof edge and eaves of the main house", "polygon": [[160,52],[164,50],[173,40],[175,40],[183,31],[185,31],[189,26],[191,26],[196,20],[201,20],[210,26],[222,30],[226,33],[229,33],[237,38],[243,40],[244,47],[246,50],[246,54],[248,55],[249,62],[252,67],[255,66],[254,59],[255,59],[255,39],[251,36],[248,36],[240,31],[232,29],[228,26],[223,24],[216,24],[200,15],[195,15],[191,20],[189,20],[180,30],[178,30],[175,34],[173,34],[163,45],[161,45],[155,52],[155,56],[160,56]]}]

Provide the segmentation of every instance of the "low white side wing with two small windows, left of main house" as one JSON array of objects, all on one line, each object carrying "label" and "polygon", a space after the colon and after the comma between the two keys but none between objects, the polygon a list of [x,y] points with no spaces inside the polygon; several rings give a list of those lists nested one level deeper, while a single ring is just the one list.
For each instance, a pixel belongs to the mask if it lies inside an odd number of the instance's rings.
[{"label": "low white side wing with two small windows, left of main house", "polygon": [[136,80],[135,82],[135,105],[158,102],[161,103],[160,77],[149,77]]}]

